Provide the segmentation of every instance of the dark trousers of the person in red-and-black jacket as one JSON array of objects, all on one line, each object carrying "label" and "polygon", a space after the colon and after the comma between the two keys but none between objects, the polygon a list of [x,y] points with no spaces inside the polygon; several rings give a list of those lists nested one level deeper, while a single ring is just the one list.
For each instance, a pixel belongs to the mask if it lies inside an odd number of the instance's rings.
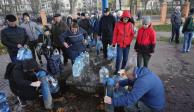
[{"label": "dark trousers of the person in red-and-black jacket", "polygon": [[150,58],[151,58],[151,55],[148,53],[137,53],[137,67],[142,66],[142,60],[143,60],[143,66],[148,67]]}]

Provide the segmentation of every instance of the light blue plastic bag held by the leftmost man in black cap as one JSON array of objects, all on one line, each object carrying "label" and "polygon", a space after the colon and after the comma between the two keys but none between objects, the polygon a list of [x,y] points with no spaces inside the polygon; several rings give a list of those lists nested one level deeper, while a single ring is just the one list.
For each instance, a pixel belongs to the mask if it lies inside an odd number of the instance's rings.
[{"label": "light blue plastic bag held by the leftmost man in black cap", "polygon": [[32,59],[32,52],[27,48],[20,48],[17,53],[17,60],[23,61],[27,59]]}]

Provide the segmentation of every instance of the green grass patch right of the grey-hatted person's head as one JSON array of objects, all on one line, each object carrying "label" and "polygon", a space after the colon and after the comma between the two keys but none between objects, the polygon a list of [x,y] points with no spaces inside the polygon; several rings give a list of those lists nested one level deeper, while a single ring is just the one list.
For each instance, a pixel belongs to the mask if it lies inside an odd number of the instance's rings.
[{"label": "green grass patch right of the grey-hatted person's head", "polygon": [[154,25],[153,27],[156,31],[159,31],[159,32],[170,32],[171,31],[170,24]]}]

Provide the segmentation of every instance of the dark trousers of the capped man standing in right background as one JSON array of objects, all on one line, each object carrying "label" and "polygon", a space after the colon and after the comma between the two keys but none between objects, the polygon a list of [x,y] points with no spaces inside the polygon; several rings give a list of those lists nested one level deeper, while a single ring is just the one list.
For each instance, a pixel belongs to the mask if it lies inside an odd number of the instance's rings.
[{"label": "dark trousers of the capped man standing in right background", "polygon": [[173,42],[175,37],[175,42],[179,43],[179,35],[180,35],[180,26],[172,26],[172,36],[170,38],[170,42]]}]

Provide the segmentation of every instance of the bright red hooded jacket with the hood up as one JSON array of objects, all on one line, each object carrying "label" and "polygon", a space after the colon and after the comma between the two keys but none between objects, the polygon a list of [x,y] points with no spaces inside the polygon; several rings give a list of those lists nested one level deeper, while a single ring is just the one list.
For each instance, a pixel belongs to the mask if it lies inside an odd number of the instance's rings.
[{"label": "bright red hooded jacket with the hood up", "polygon": [[[123,15],[121,16],[121,19],[123,17],[130,18],[130,14],[127,11],[123,12]],[[114,28],[114,35],[113,35],[113,45],[119,45],[121,48],[126,48],[130,46],[132,40],[134,37],[134,31],[133,31],[133,25],[130,22],[123,23],[122,21],[119,21],[116,23]]]}]

